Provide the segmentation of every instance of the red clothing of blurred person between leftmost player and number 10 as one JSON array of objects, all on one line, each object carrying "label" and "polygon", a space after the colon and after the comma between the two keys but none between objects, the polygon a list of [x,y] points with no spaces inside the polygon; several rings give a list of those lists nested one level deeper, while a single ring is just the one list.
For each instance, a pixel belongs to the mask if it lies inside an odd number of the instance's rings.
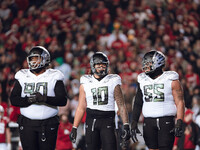
[{"label": "red clothing of blurred person between leftmost player and number 10", "polygon": [[58,128],[58,137],[56,142],[56,150],[71,150],[73,148],[72,142],[69,139],[69,134],[72,130],[72,124],[67,121],[66,123],[60,122]]}]

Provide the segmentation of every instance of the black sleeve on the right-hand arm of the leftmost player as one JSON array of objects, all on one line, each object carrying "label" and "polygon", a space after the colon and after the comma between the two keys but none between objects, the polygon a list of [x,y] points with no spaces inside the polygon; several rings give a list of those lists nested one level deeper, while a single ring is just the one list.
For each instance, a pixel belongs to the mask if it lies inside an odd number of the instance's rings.
[{"label": "black sleeve on the right-hand arm of the leftmost player", "polygon": [[52,106],[65,106],[67,104],[67,92],[63,81],[58,80],[55,85],[55,97],[47,96],[46,103]]}]

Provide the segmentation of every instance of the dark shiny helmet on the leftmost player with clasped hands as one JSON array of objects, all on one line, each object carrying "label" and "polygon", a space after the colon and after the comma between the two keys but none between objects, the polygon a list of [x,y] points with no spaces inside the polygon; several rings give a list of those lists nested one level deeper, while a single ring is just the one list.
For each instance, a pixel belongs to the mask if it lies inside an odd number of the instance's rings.
[{"label": "dark shiny helmet on the leftmost player with clasped hands", "polygon": [[[32,60],[32,57],[37,57],[37,60]],[[27,62],[30,70],[46,67],[50,64],[50,54],[46,48],[35,46],[31,48],[27,57]]]}]

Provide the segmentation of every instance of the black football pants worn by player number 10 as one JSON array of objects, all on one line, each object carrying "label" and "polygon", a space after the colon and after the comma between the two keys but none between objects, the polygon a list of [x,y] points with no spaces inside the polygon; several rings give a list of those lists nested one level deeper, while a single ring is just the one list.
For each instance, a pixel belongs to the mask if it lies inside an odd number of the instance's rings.
[{"label": "black football pants worn by player number 10", "polygon": [[87,150],[116,150],[114,118],[86,119]]}]

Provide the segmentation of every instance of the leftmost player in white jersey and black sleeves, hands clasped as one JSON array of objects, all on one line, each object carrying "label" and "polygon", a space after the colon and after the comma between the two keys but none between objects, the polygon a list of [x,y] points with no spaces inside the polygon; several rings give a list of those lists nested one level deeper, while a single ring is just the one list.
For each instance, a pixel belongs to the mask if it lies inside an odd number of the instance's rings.
[{"label": "leftmost player in white jersey and black sleeves, hands clasped", "polygon": [[67,93],[63,74],[49,69],[50,54],[33,47],[27,57],[29,69],[15,74],[10,101],[20,107],[19,133],[24,150],[55,150],[59,125],[58,106],[65,106]]}]

